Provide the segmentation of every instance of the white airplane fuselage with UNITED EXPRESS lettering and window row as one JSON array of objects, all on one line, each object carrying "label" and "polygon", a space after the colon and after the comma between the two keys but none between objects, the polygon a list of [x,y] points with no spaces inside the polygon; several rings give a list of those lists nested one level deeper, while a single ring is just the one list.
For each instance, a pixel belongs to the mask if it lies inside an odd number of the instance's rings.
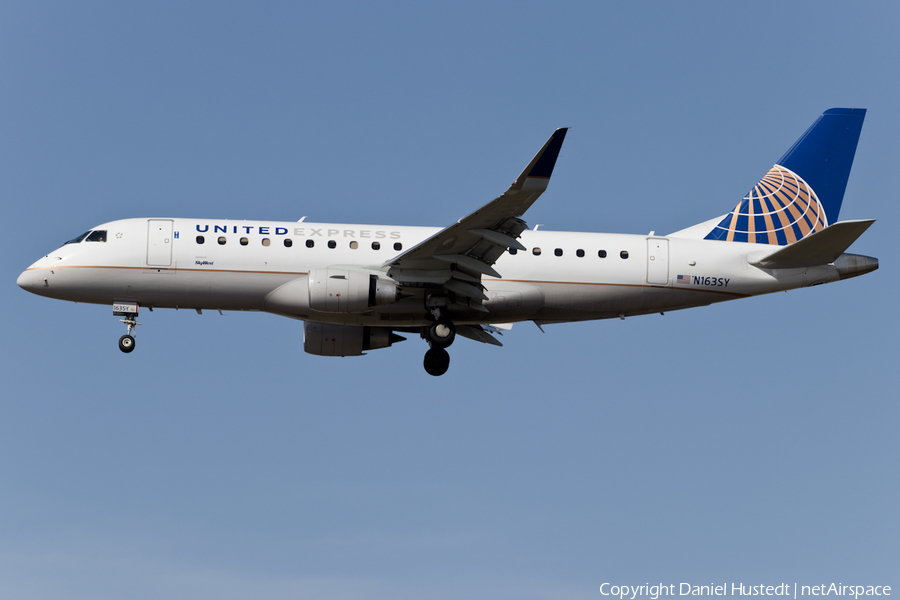
[{"label": "white airplane fuselage with UNITED EXPRESS lettering and window row", "polygon": [[[62,246],[23,272],[19,285],[97,304],[266,311],[381,327],[429,322],[421,278],[409,287],[398,279],[403,293],[397,302],[361,312],[314,311],[304,294],[307,274],[317,268],[346,266],[390,276],[382,268],[386,261],[440,228],[144,218],[94,230],[106,231],[106,241]],[[841,278],[832,264],[752,266],[748,257],[774,250],[759,244],[555,231],[525,231],[519,241],[525,251],[506,253],[494,265],[502,279],[482,277],[487,312],[467,313],[460,323],[624,317]]]}]

